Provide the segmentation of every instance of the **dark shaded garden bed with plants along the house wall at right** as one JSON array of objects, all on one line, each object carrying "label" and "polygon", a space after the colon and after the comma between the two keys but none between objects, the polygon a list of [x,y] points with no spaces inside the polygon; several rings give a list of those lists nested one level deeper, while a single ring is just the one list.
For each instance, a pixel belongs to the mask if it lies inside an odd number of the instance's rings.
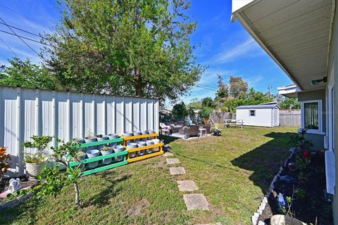
[{"label": "dark shaded garden bed with plants along the house wall at right", "polygon": [[[301,153],[294,154],[289,162],[296,162],[296,158],[302,158]],[[285,197],[291,197],[294,193],[291,209],[294,217],[305,223],[333,224],[332,203],[324,198],[326,190],[324,153],[318,152],[311,155],[311,162],[306,169],[297,169],[296,172],[284,169],[281,176],[284,175],[295,177],[296,184],[287,184],[277,179],[274,191],[277,194],[282,193]],[[270,195],[268,204],[258,220],[270,224],[270,217],[273,214],[280,214],[280,212],[274,196]]]}]

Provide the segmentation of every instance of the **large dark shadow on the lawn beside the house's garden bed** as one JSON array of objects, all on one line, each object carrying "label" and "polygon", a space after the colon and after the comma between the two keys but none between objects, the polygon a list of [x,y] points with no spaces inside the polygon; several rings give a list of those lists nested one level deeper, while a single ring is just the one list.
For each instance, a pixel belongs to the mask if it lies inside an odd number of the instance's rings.
[{"label": "large dark shadow on the lawn beside the house's garden bed", "polygon": [[277,174],[280,165],[290,154],[288,150],[292,147],[290,138],[292,135],[294,133],[289,132],[265,134],[273,140],[232,160],[232,165],[253,172],[249,179],[259,186],[263,193],[266,193],[273,176]]}]

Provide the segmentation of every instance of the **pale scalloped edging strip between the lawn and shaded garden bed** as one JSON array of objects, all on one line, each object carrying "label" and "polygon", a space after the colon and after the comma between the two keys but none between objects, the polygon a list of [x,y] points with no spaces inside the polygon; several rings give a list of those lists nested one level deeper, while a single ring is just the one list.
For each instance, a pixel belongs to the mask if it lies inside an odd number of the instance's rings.
[{"label": "pale scalloped edging strip between the lawn and shaded garden bed", "polygon": [[265,225],[264,221],[258,221],[258,217],[261,214],[263,214],[263,211],[265,210],[265,206],[266,206],[266,204],[268,204],[268,199],[272,195],[273,189],[275,189],[276,181],[277,181],[277,179],[280,178],[280,174],[282,174],[282,172],[284,172],[285,162],[289,161],[294,156],[295,150],[296,150],[296,148],[294,148],[294,147],[289,149],[291,154],[289,155],[289,157],[286,160],[284,160],[284,163],[282,164],[282,166],[280,166],[280,171],[273,177],[273,181],[271,181],[268,193],[265,194],[263,200],[261,201],[261,204],[258,207],[258,210],[255,213],[253,213],[253,216],[251,217],[251,221],[252,221],[253,225],[257,225],[257,224],[258,225]]}]

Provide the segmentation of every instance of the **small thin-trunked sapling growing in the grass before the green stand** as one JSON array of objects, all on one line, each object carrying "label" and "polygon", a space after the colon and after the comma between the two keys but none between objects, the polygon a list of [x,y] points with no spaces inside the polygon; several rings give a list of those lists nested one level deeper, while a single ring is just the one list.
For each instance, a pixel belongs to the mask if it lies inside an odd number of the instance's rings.
[{"label": "small thin-trunked sapling growing in the grass before the green stand", "polygon": [[77,181],[81,174],[80,165],[76,169],[72,169],[70,167],[71,161],[79,161],[78,153],[80,151],[79,143],[74,143],[73,141],[60,141],[59,143],[62,143],[61,146],[58,146],[56,148],[51,148],[54,150],[53,156],[56,159],[56,162],[61,162],[66,167],[66,173],[68,174],[68,179],[70,179],[70,182],[73,183],[74,190],[75,190],[75,207],[80,207],[80,193]]}]

